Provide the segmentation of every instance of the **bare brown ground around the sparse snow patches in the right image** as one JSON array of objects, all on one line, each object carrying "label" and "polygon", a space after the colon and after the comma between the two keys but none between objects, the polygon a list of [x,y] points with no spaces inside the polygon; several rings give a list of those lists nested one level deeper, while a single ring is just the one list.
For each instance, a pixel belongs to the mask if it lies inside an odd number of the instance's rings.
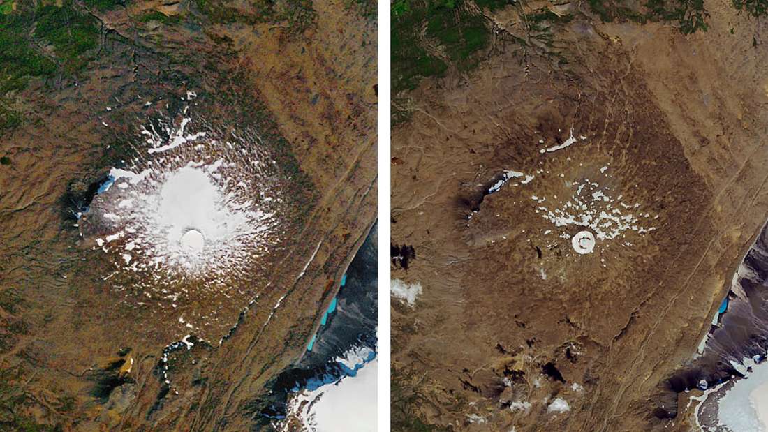
[{"label": "bare brown ground around the sparse snow patches in the right image", "polygon": [[[753,46],[764,26],[705,6],[709,31],[684,36],[602,24],[570,3],[584,15],[554,31],[567,64],[495,41],[477,70],[406,95],[392,242],[417,258],[392,278],[423,293],[413,308],[392,301],[393,410],[451,430],[689,430],[684,401],[674,418],[654,410],[674,405],[665,380],[694,354],[768,209]],[[507,18],[496,15],[502,31]],[[540,153],[571,127],[576,143]],[[504,170],[535,178],[483,196]],[[590,183],[655,229],[575,253],[561,235],[581,228],[539,207]],[[548,411],[558,397],[570,411]]]}]

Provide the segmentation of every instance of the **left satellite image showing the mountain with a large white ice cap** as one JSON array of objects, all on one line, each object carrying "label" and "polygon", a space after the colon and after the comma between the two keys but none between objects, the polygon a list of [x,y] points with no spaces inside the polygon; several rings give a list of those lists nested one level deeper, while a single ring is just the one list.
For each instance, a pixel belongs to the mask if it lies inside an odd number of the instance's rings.
[{"label": "left satellite image showing the mountain with a large white ice cap", "polygon": [[0,430],[376,430],[376,33],[0,0]]}]

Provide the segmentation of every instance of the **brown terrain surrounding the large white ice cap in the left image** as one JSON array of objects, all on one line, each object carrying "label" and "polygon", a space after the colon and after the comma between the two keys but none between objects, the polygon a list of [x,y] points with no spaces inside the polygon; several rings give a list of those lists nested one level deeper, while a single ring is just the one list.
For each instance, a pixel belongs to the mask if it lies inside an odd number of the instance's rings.
[{"label": "brown terrain surrounding the large white ice cap in the left image", "polygon": [[[265,384],[303,353],[376,218],[376,20],[341,0],[268,19],[260,2],[92,3],[64,2],[98,22],[87,66],[5,95],[22,121],[0,130],[0,430],[257,428]],[[164,347],[187,329],[123,307],[70,197],[131,156],[147,98],[186,90],[297,167],[296,196],[253,269],[257,302],[171,352],[166,385]]]}]

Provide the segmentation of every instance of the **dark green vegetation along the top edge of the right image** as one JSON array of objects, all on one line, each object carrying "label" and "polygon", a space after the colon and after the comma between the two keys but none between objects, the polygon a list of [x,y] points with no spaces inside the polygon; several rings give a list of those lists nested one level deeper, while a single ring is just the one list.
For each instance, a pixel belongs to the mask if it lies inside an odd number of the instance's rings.
[{"label": "dark green vegetation along the top edge of the right image", "polygon": [[[643,0],[637,5],[627,0],[588,0],[592,12],[604,22],[648,21],[674,23],[681,33],[707,31],[709,12],[703,0]],[[733,5],[750,15],[768,14],[768,0],[732,0]],[[469,7],[469,0],[394,0],[392,15],[392,91],[398,94],[414,89],[423,77],[445,76],[449,68],[468,71],[482,59],[490,44],[491,23]],[[475,0],[485,14],[508,6],[516,8],[525,22],[525,37],[511,35],[521,51],[540,50],[557,64],[568,60],[555,49],[553,27],[572,21],[574,15],[561,15],[551,8],[525,10],[513,0]],[[536,41],[531,45],[531,41]],[[543,48],[541,48],[543,47]],[[406,114],[406,115],[403,115]],[[406,119],[407,113],[393,110]],[[394,118],[394,117],[393,117]]]}]

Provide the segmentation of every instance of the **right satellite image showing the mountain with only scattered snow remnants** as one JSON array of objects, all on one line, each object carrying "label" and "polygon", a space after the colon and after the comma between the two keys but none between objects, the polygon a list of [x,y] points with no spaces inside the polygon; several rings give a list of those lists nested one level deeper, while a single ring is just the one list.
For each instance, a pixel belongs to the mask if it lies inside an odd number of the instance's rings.
[{"label": "right satellite image showing the mountain with only scattered snow remnants", "polygon": [[392,430],[768,430],[766,13],[392,2]]}]

